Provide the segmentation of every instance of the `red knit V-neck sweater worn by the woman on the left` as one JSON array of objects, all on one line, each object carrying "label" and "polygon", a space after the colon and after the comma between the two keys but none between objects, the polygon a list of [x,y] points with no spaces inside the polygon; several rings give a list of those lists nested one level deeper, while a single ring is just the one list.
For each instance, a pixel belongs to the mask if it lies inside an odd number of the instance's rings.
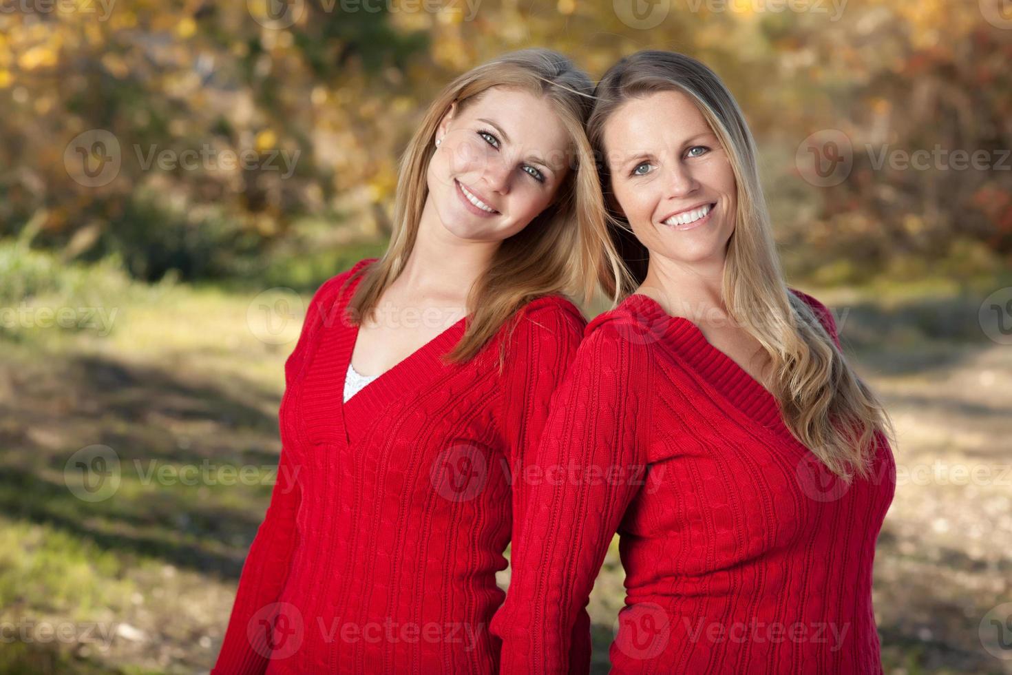
[{"label": "red knit V-neck sweater worn by the woman on the left", "polygon": [[[463,319],[342,403],[357,263],[321,286],[285,362],[282,450],[213,673],[489,673],[495,573],[528,449],[586,322],[535,300],[465,364]],[[499,347],[506,360],[499,370]],[[589,618],[575,620],[589,654]],[[577,670],[587,664],[577,661]]]}]

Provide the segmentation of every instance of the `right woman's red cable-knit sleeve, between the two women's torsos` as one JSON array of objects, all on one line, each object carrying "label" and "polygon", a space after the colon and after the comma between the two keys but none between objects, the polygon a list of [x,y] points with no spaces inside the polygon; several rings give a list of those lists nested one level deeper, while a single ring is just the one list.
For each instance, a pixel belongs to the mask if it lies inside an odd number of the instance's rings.
[{"label": "right woman's red cable-knit sleeve, between the two women's torsos", "polygon": [[[646,470],[650,369],[643,345],[608,326],[581,344],[552,408],[525,483],[521,559],[492,619],[500,672],[587,672],[573,655],[608,544]],[[581,634],[582,637],[582,634]]]}]

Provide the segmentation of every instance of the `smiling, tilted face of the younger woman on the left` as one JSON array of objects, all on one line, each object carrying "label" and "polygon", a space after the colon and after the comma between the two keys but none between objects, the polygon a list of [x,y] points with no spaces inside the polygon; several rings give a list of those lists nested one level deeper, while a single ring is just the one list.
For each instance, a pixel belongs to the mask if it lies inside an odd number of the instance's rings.
[{"label": "smiling, tilted face of the younger woman on the left", "polygon": [[461,239],[501,241],[552,204],[569,171],[569,132],[544,98],[492,87],[439,122],[429,199]]}]

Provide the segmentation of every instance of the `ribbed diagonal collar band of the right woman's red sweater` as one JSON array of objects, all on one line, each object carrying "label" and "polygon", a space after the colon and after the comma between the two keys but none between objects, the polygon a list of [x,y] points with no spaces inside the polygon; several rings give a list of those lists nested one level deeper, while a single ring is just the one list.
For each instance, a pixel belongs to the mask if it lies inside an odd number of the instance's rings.
[{"label": "ribbed diagonal collar band of the right woman's red sweater", "polygon": [[669,315],[656,300],[643,293],[629,294],[625,303],[634,313],[651,317],[651,325],[663,326],[663,336],[670,344],[677,345],[677,353],[735,408],[763,427],[787,431],[776,397],[714,347],[692,321]]}]

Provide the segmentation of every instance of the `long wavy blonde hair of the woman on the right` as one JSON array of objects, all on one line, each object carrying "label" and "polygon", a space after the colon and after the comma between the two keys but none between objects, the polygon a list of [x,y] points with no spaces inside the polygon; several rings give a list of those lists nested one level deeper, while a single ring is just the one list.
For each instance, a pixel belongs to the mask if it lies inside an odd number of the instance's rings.
[{"label": "long wavy blonde hair of the woman on the right", "polygon": [[[771,391],[793,436],[834,474],[867,476],[875,434],[892,436],[881,403],[853,368],[805,301],[790,292],[773,240],[759,181],[756,145],[745,115],[720,77],[690,57],[644,51],[612,66],[594,92],[587,124],[603,154],[604,124],[630,98],[660,91],[687,94],[724,147],[737,184],[738,207],[728,243],[722,294],[734,321],[755,337],[772,360]],[[606,162],[601,183],[610,190]],[[647,248],[628,224],[609,212],[611,238],[626,265],[621,294],[643,283]]]}]

